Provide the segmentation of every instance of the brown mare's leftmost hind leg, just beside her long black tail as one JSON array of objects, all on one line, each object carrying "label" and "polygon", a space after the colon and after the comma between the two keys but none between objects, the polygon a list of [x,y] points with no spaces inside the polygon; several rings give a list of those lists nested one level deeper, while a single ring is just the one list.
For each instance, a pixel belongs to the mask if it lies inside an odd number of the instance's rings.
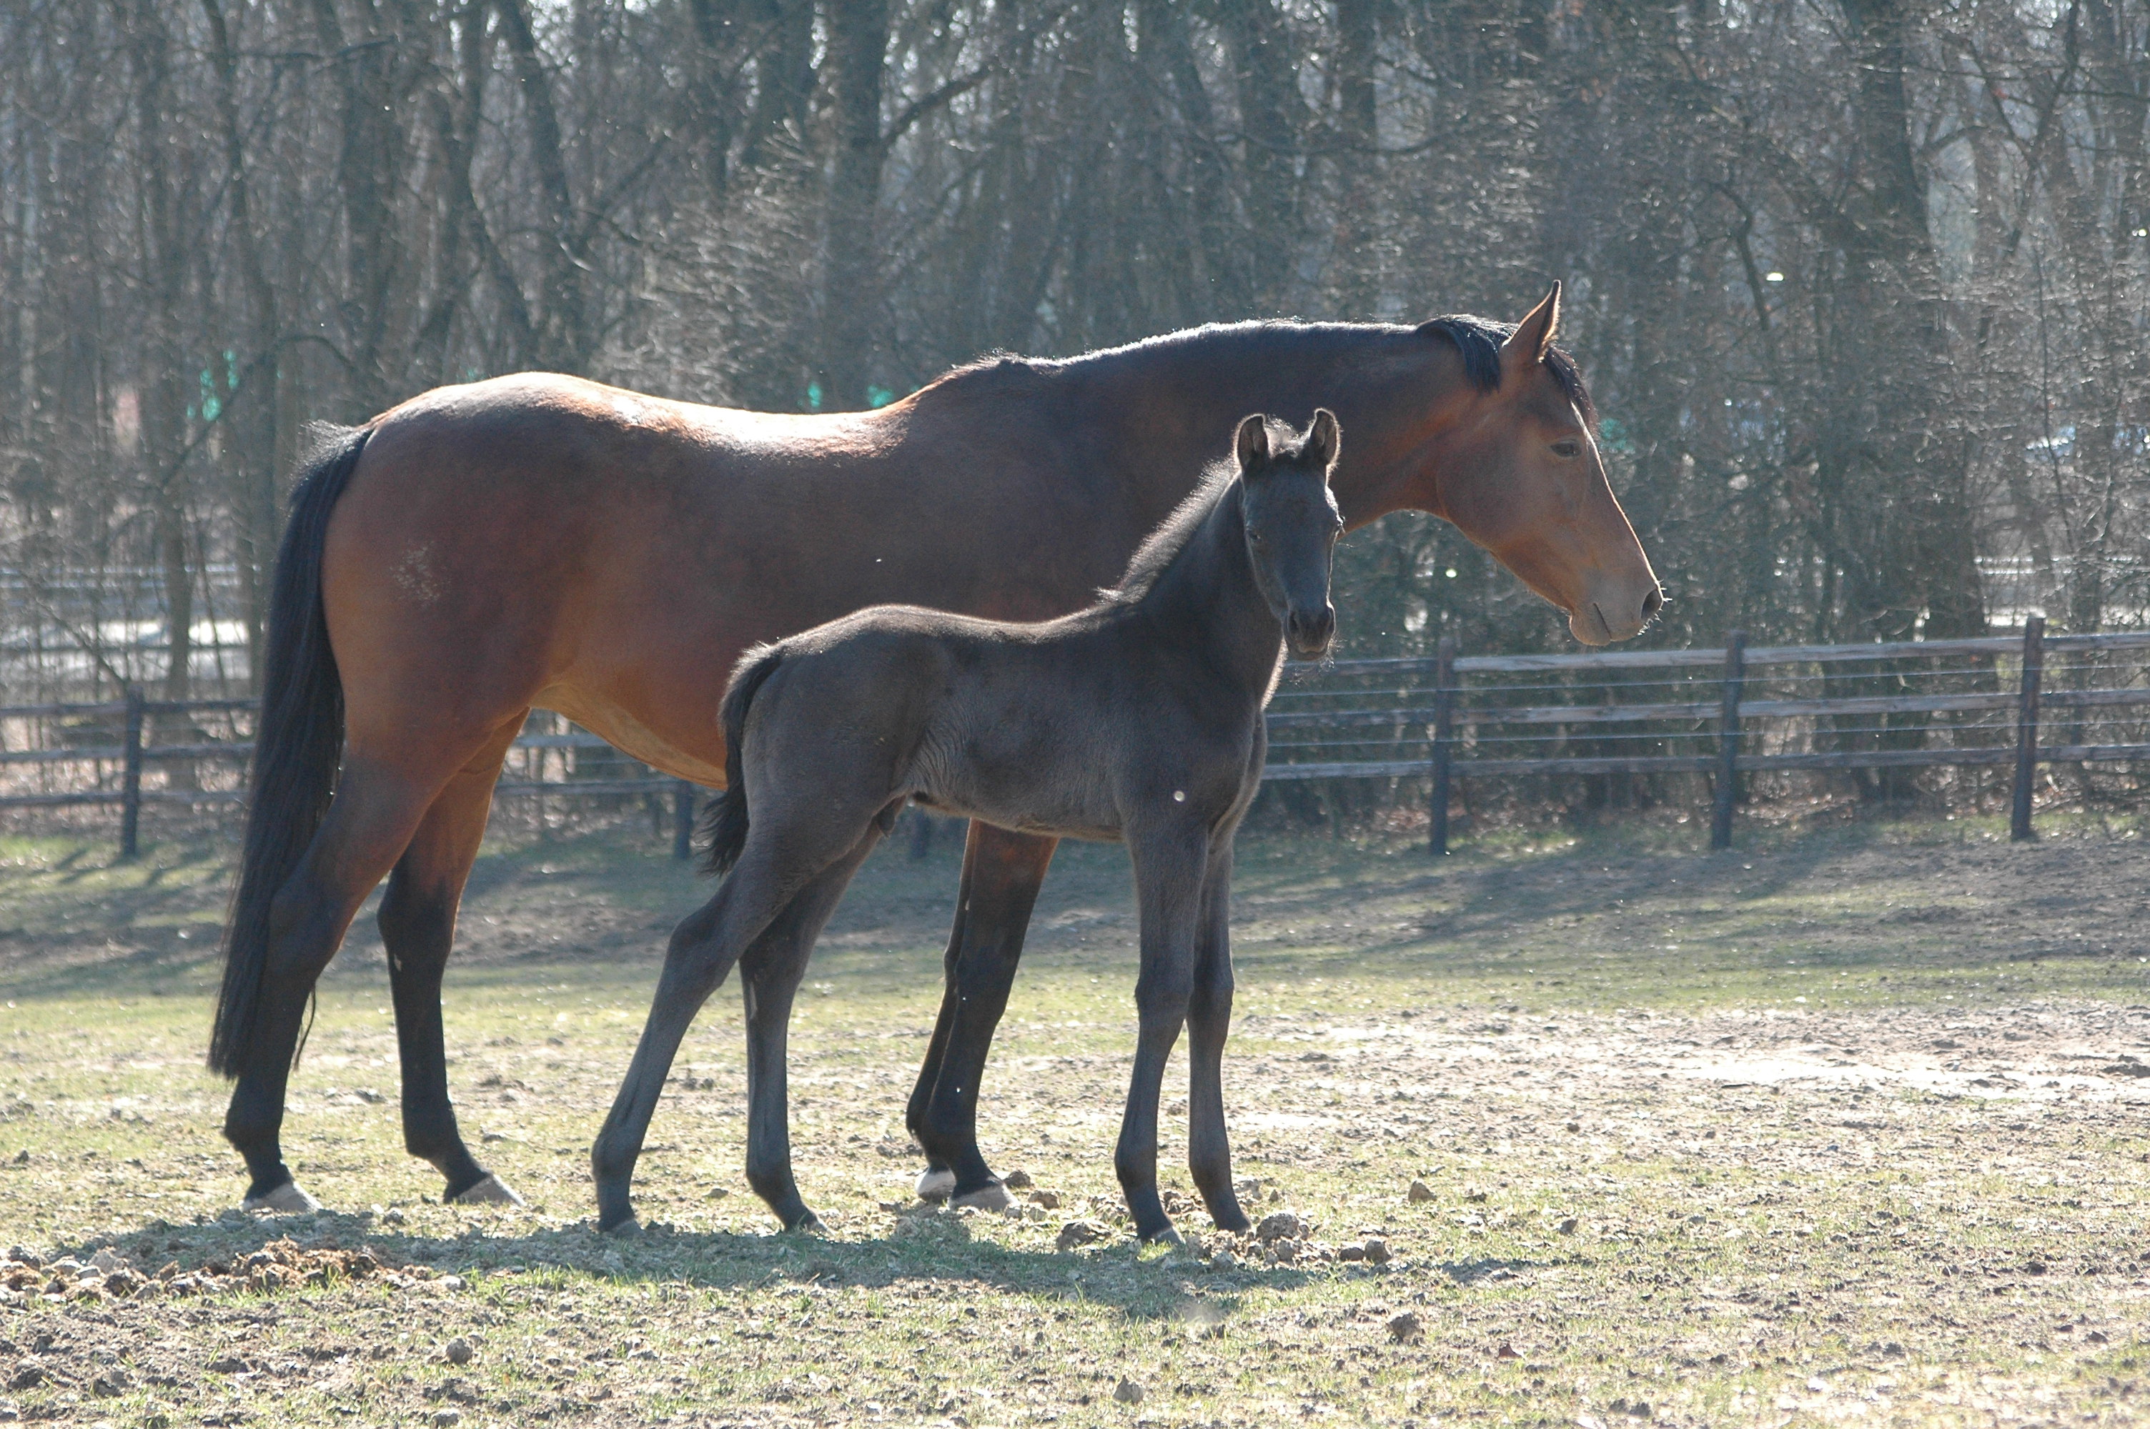
[{"label": "brown mare's leftmost hind leg, just beside her long black tail", "polygon": [[247,1064],[232,1087],[224,1137],[247,1158],[249,1210],[312,1210],[316,1201],[284,1165],[284,1087],[299,1047],[299,1021],[320,969],[335,956],[366,894],[396,864],[436,780],[391,769],[363,754],[344,765],[329,814],[269,911],[269,956],[247,1042]]}]

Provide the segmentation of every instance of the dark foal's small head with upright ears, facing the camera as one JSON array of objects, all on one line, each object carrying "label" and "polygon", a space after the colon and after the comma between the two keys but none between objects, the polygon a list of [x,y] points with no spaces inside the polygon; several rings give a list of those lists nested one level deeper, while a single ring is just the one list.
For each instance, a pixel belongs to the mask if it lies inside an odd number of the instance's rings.
[{"label": "dark foal's small head with upright ears, facing the camera", "polygon": [[1329,494],[1337,447],[1337,419],[1327,408],[1305,432],[1256,415],[1232,438],[1253,584],[1296,660],[1320,660],[1337,638],[1337,608],[1329,604],[1329,565],[1344,533]]}]

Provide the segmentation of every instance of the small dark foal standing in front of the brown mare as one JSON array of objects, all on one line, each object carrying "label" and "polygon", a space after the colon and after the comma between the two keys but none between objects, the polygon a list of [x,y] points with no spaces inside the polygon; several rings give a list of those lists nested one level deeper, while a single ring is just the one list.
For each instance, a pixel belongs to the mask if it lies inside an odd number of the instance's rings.
[{"label": "small dark foal standing in front of the brown mare", "polygon": [[634,1066],[591,1150],[604,1227],[632,1218],[628,1188],[658,1092],[733,963],[746,993],[746,1178],[787,1229],[819,1225],[791,1178],[791,997],[851,875],[918,799],[1028,834],[1127,842],[1142,1034],[1120,1186],[1144,1240],[1172,1233],[1157,1195],[1157,1096],[1185,1023],[1187,1160],[1215,1223],[1247,1229],[1221,1083],[1232,834],[1262,782],[1262,707],[1284,649],[1312,660],[1335,636],[1335,456],[1327,410],[1305,434],[1247,417],[1236,471],[1221,466],[1198,488],[1116,591],[1058,621],[875,606],[740,660],[710,840],[712,866],[731,877],[673,935]]}]

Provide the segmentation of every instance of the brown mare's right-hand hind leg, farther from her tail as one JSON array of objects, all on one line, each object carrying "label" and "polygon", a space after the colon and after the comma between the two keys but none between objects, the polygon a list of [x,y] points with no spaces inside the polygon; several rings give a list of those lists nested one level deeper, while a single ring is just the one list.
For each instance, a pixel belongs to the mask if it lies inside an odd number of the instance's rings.
[{"label": "brown mare's right-hand hind leg, farther from her tail", "polygon": [[404,1147],[441,1171],[447,1201],[522,1203],[462,1143],[447,1100],[447,1049],[441,1040],[441,971],[456,941],[456,905],[486,836],[492,782],[520,726],[522,716],[505,722],[492,746],[447,782],[381,898],[381,941],[389,954],[396,1044],[402,1053]]}]

